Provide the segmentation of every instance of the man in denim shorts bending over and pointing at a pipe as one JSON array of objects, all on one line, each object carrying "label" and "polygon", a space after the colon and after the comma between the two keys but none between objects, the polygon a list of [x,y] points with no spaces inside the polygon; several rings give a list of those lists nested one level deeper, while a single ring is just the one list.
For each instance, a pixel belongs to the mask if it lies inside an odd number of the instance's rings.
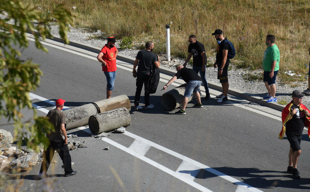
[{"label": "man in denim shorts bending over and pointing at a pipe", "polygon": [[175,112],[177,115],[185,115],[185,107],[188,102],[188,97],[192,96],[192,93],[195,94],[197,103],[194,105],[195,107],[202,108],[200,94],[198,92],[198,88],[201,85],[201,78],[197,75],[197,73],[193,69],[185,68],[183,65],[176,66],[176,70],[178,71],[173,78],[169,80],[169,82],[162,88],[162,90],[166,91],[168,85],[182,77],[182,79],[187,83],[184,91],[184,97],[182,101],[182,109]]}]

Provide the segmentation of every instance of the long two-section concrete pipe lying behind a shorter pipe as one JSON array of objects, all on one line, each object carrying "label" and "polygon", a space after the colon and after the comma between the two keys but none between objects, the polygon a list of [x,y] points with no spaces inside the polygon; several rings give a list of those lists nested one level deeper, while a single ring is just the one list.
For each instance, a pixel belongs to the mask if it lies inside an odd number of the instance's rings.
[{"label": "long two-section concrete pipe lying behind a shorter pipe", "polygon": [[66,115],[66,130],[74,129],[88,124],[91,115],[103,113],[108,110],[126,107],[130,110],[130,100],[126,95],[120,95],[109,99],[89,103],[64,111]]}]

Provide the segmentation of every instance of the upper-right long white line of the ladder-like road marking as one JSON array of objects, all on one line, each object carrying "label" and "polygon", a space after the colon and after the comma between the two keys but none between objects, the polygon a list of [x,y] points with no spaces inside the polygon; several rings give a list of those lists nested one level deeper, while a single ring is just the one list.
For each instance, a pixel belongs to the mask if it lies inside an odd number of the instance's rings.
[{"label": "upper-right long white line of the ladder-like road marking", "polygon": [[200,169],[205,169],[206,171],[211,172],[211,173],[213,173],[213,174],[215,174],[215,175],[217,175],[217,176],[219,176],[219,177],[221,177],[221,178],[223,178],[223,179],[225,179],[225,180],[227,180],[229,182],[232,182],[233,184],[240,185],[243,188],[246,188],[246,189],[251,190],[251,191],[261,191],[259,189],[256,189],[255,187],[252,187],[251,185],[248,185],[248,184],[246,184],[244,182],[241,182],[241,181],[239,181],[239,180],[237,180],[237,179],[235,179],[235,178],[233,178],[231,176],[225,175],[224,173],[219,172],[219,171],[217,171],[217,170],[215,170],[215,169],[213,169],[211,167],[208,167],[208,166],[206,166],[206,165],[204,165],[202,163],[199,163],[198,161],[190,159],[190,158],[188,158],[188,157],[186,157],[184,155],[181,155],[181,154],[179,154],[179,153],[177,153],[175,151],[167,149],[166,147],[163,147],[163,146],[158,145],[158,144],[156,144],[156,143],[154,143],[152,141],[144,139],[143,137],[137,136],[137,135],[135,135],[133,133],[130,133],[128,131],[126,131],[123,134],[125,134],[127,136],[130,136],[131,138],[134,138],[136,140],[143,141],[144,143],[147,143],[148,145],[150,145],[152,147],[155,147],[155,148],[157,148],[157,149],[159,149],[159,150],[161,150],[163,152],[166,152],[167,154],[170,154],[170,155],[175,156],[175,157],[177,157],[179,159],[182,159],[183,161],[186,161],[188,163],[192,163],[194,166],[197,166]]}]

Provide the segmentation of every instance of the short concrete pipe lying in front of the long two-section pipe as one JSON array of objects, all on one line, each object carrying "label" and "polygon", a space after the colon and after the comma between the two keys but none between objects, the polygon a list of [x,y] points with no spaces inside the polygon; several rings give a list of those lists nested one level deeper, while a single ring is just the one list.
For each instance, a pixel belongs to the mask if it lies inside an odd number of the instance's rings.
[{"label": "short concrete pipe lying in front of the long two-section pipe", "polygon": [[113,131],[119,127],[130,125],[131,117],[125,107],[92,115],[88,119],[88,126],[92,133],[98,135],[102,132]]}]

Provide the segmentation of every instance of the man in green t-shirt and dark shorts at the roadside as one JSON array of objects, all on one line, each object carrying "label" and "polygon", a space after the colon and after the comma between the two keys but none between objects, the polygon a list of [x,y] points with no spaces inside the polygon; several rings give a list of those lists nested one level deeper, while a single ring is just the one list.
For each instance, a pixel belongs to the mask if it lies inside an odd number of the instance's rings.
[{"label": "man in green t-shirt and dark shorts at the roadside", "polygon": [[268,46],[264,52],[263,70],[264,83],[266,85],[268,94],[263,99],[268,99],[267,103],[277,102],[276,98],[276,77],[279,71],[280,51],[274,43],[276,38],[274,35],[267,35],[266,45]]}]

